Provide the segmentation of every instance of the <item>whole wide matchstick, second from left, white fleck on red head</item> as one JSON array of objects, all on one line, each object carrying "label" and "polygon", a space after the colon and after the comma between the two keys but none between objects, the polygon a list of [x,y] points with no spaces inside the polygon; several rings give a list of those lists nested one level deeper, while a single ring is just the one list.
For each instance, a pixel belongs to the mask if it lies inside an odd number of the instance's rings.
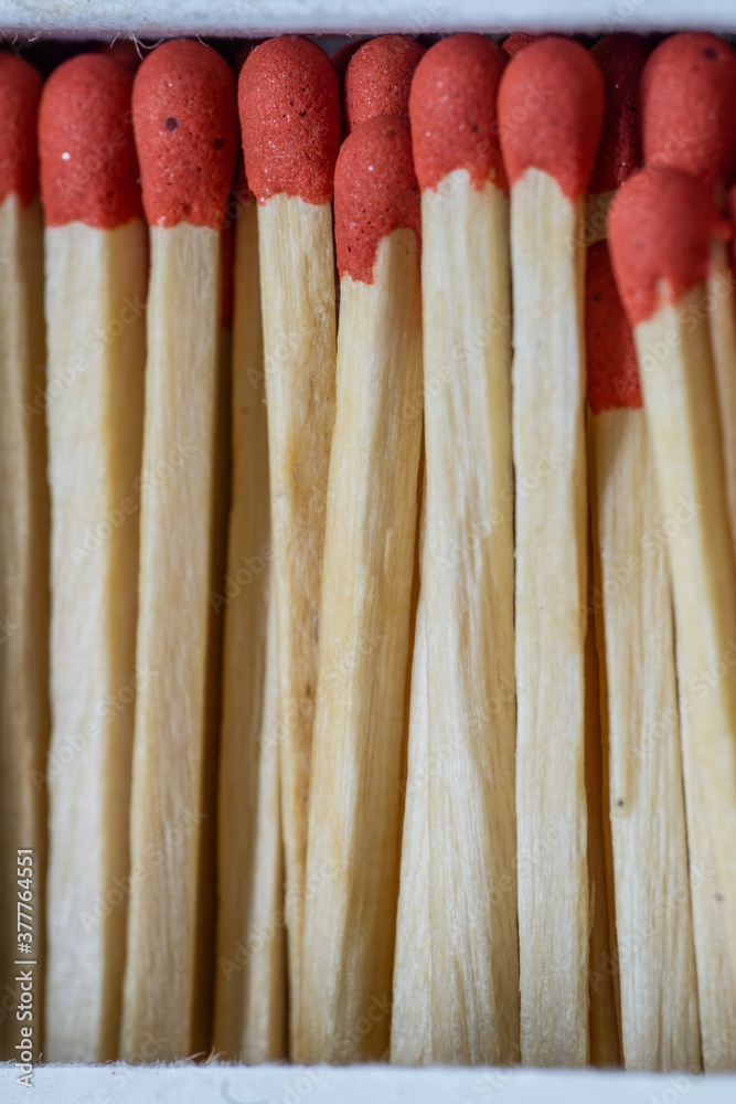
[{"label": "whole wide matchstick, second from left, white fleck on red head", "polygon": [[147,240],[131,74],[87,54],[41,99],[49,327],[50,854],[44,1057],[118,1052],[130,892]]}]

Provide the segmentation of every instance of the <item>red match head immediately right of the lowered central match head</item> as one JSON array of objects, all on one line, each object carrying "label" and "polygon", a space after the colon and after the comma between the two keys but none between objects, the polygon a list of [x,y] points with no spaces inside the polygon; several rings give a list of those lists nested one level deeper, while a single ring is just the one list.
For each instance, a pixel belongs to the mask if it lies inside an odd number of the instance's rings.
[{"label": "red match head immediately right of the lowered central match head", "polygon": [[477,188],[506,190],[495,102],[508,57],[482,34],[454,34],[419,62],[409,96],[414,163],[422,190],[466,169]]}]

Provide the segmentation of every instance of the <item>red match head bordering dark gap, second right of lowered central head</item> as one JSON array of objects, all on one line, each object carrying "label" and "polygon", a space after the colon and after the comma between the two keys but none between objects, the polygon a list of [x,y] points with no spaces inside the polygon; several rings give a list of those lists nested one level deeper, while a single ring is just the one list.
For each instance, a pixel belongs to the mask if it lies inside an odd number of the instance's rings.
[{"label": "red match head bordering dark gap, second right of lowered central head", "polygon": [[556,35],[512,57],[499,88],[499,132],[513,184],[527,169],[554,177],[573,202],[585,194],[600,139],[604,79],[588,51]]}]

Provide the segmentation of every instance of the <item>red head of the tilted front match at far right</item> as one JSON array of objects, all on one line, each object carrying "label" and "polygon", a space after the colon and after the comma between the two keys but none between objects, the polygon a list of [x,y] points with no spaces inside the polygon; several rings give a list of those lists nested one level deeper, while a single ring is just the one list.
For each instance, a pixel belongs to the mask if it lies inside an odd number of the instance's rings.
[{"label": "red head of the tilted front match at far right", "polygon": [[679,169],[641,169],[616,193],[608,241],[616,283],[632,326],[661,306],[663,282],[676,304],[708,273],[711,238],[730,227],[711,189]]}]

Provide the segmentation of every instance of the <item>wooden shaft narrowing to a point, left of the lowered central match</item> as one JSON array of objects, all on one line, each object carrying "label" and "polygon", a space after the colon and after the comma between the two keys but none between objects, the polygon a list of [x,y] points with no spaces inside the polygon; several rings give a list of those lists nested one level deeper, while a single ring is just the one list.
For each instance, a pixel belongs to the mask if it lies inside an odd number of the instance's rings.
[{"label": "wooden shaft narrowing to a point, left of the lowered central match", "polygon": [[320,640],[327,482],[334,424],[331,204],[277,194],[258,206],[278,640],[289,1036],[297,1039],[307,807]]}]

